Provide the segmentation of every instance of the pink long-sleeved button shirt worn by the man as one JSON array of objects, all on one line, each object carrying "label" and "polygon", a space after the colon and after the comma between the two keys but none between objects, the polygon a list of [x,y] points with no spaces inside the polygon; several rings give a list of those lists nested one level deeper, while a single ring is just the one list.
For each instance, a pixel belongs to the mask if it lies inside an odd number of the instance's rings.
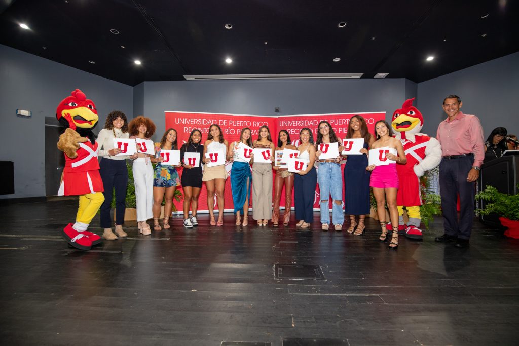
[{"label": "pink long-sleeved button shirt worn by the man", "polygon": [[475,115],[459,112],[453,121],[440,122],[436,139],[442,146],[442,156],[474,154],[474,166],[481,167],[485,157],[483,128]]}]

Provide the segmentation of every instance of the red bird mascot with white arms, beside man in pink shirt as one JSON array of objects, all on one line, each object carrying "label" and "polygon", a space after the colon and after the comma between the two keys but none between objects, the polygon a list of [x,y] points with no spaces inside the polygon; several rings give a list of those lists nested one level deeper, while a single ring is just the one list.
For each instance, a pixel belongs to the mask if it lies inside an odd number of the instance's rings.
[{"label": "red bird mascot with white arms, beside man in pink shirt", "polygon": [[[397,194],[399,234],[405,233],[406,238],[421,240],[423,236],[419,227],[422,200],[419,177],[440,164],[442,149],[438,140],[420,133],[424,126],[424,117],[413,106],[413,101],[414,98],[405,101],[401,109],[394,111],[391,127],[394,137],[402,142],[407,158],[406,164],[397,164],[400,183]],[[409,216],[407,225],[404,225],[404,206]]]}]

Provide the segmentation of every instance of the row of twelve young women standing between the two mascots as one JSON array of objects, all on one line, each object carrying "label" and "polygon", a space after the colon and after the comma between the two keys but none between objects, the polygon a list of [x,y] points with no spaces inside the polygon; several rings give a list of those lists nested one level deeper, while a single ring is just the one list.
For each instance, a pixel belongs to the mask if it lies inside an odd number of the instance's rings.
[{"label": "row of twelve young women standing between the two mascots", "polygon": [[[98,138],[101,160],[101,176],[105,186],[105,202],[101,206],[101,227],[104,228],[104,239],[117,239],[127,237],[127,233],[121,228],[125,213],[126,188],[128,172],[125,158],[116,156],[120,149],[114,148],[114,138],[140,138],[149,139],[155,132],[155,124],[148,118],[139,116],[127,123],[126,116],[121,112],[112,112],[106,118],[105,128],[101,130]],[[360,155],[338,155],[332,159],[319,159],[322,155],[320,144],[338,143],[339,153],[343,151],[342,141],[336,136],[331,124],[322,120],[318,126],[317,141],[314,142],[312,131],[303,128],[299,132],[299,145],[292,145],[290,134],[286,130],[278,133],[277,145],[272,142],[270,130],[262,126],[258,131],[258,138],[253,141],[252,131],[243,128],[240,139],[229,143],[224,139],[220,126],[212,124],[209,128],[207,140],[201,144],[202,133],[194,129],[189,134],[187,143],[182,145],[181,164],[163,165],[161,150],[177,150],[177,133],[174,129],[168,129],[162,136],[160,143],[155,144],[155,155],[135,154],[130,156],[133,161],[133,179],[135,183],[135,197],[137,209],[137,222],[139,230],[143,234],[150,234],[151,230],[147,220],[154,219],[154,230],[161,230],[159,225],[160,205],[165,199],[163,228],[168,229],[169,217],[172,209],[172,199],[176,186],[181,185],[184,191],[184,227],[192,228],[198,225],[197,209],[198,197],[202,182],[206,183],[207,205],[212,226],[223,225],[224,189],[227,172],[225,165],[208,167],[210,159],[207,153],[225,153],[228,161],[233,161],[230,171],[230,183],[233,194],[234,213],[236,214],[236,226],[247,226],[249,216],[249,198],[252,190],[252,217],[258,226],[266,226],[269,220],[272,226],[288,226],[290,223],[290,210],[292,206],[292,190],[294,190],[295,216],[297,227],[307,229],[313,222],[313,203],[316,186],[319,182],[321,224],[322,230],[329,230],[333,225],[336,231],[342,230],[344,213],[349,215],[350,226],[348,233],[356,235],[364,234],[364,218],[370,214],[370,186],[377,201],[377,213],[380,220],[381,231],[379,240],[386,241],[388,229],[386,222],[386,204],[389,209],[392,225],[398,225],[397,191],[399,181],[396,164],[405,164],[406,158],[399,140],[392,137],[391,127],[385,120],[375,123],[375,134],[368,132],[367,124],[360,115],[353,116],[348,125],[346,139],[363,139],[364,146]],[[240,143],[252,148],[270,149],[270,163],[255,162],[251,154],[250,161],[238,155]],[[386,154],[394,163],[389,165],[368,165],[368,149],[389,147],[397,150],[397,155]],[[138,146],[138,151],[140,147]],[[296,173],[289,172],[287,168],[277,167],[274,162],[275,151],[292,149],[299,151],[299,158],[307,159],[305,170]],[[198,165],[192,166],[183,160],[186,153],[195,155]],[[345,201],[343,212],[343,176],[340,164],[346,161],[344,168]],[[318,170],[316,170],[318,161]],[[151,163],[158,163],[153,170]],[[202,170],[202,163],[204,169]],[[251,169],[252,163],[252,169]],[[182,178],[179,179],[177,168],[183,168]],[[272,170],[275,172],[274,184],[272,184]],[[280,216],[280,201],[284,187],[285,211]],[[272,189],[274,188],[274,200]],[[111,229],[110,209],[112,191],[115,189],[115,234]],[[329,212],[329,198],[332,198],[332,219]],[[272,208],[274,204],[274,208]],[[217,205],[218,219],[215,219],[213,209]],[[191,216],[189,217],[189,210]],[[359,218],[357,221],[357,217]],[[392,230],[390,248],[398,247],[398,229]]]}]

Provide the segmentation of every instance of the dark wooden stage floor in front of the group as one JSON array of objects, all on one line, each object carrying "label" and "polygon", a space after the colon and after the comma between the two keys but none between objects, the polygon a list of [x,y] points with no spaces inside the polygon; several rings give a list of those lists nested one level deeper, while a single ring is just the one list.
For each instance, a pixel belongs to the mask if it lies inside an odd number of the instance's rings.
[{"label": "dark wooden stage floor in front of the group", "polygon": [[[194,230],[175,217],[151,236],[130,222],[129,238],[81,252],[60,238],[76,206],[0,206],[1,344],[519,343],[519,241],[477,221],[470,248],[434,243],[438,218],[395,252],[373,219],[356,237],[322,232],[318,213],[311,231],[236,227],[232,214],[209,226],[206,214]],[[275,278],[302,265],[325,280]]]}]

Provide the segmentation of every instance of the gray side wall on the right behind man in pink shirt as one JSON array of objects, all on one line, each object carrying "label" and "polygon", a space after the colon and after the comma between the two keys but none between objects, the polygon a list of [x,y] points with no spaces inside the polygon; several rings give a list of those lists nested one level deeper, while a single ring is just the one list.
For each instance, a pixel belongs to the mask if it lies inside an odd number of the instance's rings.
[{"label": "gray side wall on the right behind man in pink shirt", "polygon": [[442,102],[449,94],[460,96],[463,113],[480,118],[485,139],[498,126],[519,134],[519,53],[419,83],[417,108],[427,119],[423,132],[436,135],[438,124],[447,117]]}]

